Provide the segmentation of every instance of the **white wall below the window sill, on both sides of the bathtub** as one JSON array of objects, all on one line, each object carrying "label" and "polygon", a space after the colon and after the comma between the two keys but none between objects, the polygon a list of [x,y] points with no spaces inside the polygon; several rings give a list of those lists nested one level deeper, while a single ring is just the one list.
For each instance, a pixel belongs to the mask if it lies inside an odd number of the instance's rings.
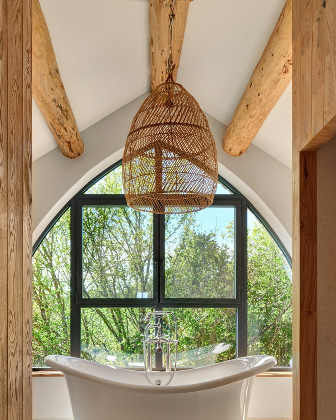
[{"label": "white wall below the window sill, on both sides of the bathtub", "polygon": [[[249,418],[292,417],[292,379],[256,378]],[[66,381],[61,378],[33,378],[33,418],[70,419],[72,411]]]}]

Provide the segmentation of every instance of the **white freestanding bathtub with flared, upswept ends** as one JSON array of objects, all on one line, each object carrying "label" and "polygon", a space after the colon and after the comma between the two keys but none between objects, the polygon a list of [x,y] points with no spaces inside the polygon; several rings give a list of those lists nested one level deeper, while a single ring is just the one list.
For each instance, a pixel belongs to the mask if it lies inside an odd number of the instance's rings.
[{"label": "white freestanding bathtub with flared, upswept ends", "polygon": [[246,420],[255,375],[276,365],[249,356],[215,365],[149,373],[53,355],[45,362],[64,373],[74,420]]}]

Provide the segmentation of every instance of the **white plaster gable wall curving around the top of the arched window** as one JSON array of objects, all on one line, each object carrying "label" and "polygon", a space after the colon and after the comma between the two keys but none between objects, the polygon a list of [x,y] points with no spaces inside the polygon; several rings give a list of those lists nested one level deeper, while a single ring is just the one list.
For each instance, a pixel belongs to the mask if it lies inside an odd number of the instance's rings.
[{"label": "white plaster gable wall curving around the top of the arched window", "polygon": [[[33,242],[74,194],[121,159],[132,118],[147,95],[84,130],[85,151],[77,159],[64,157],[56,148],[33,162]],[[252,202],[291,254],[291,169],[253,144],[240,157],[226,155],[221,147],[226,126],[207,118],[220,175]]]}]

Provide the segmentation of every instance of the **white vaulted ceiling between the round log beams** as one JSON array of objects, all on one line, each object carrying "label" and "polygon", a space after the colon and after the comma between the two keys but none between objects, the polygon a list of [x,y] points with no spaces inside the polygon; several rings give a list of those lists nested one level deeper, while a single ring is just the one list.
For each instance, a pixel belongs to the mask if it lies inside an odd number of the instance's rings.
[{"label": "white vaulted ceiling between the round log beams", "polygon": [[[189,5],[177,82],[225,125],[284,3],[194,0]],[[80,131],[150,89],[148,0],[40,0],[40,4]],[[291,85],[253,143],[291,167]],[[55,147],[34,103],[33,160]]]}]

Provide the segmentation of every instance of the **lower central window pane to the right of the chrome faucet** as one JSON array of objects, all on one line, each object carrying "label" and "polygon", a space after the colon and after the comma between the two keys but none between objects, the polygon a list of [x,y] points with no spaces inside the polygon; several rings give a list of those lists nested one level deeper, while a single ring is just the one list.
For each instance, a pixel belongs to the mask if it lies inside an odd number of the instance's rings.
[{"label": "lower central window pane to the right of the chrome faucet", "polygon": [[[177,366],[212,365],[236,357],[235,308],[166,308],[176,315]],[[171,320],[171,317],[167,317]],[[173,325],[165,325],[165,332]],[[175,334],[175,331],[170,331]],[[163,357],[165,360],[165,357]],[[172,357],[172,365],[175,358]]]}]

